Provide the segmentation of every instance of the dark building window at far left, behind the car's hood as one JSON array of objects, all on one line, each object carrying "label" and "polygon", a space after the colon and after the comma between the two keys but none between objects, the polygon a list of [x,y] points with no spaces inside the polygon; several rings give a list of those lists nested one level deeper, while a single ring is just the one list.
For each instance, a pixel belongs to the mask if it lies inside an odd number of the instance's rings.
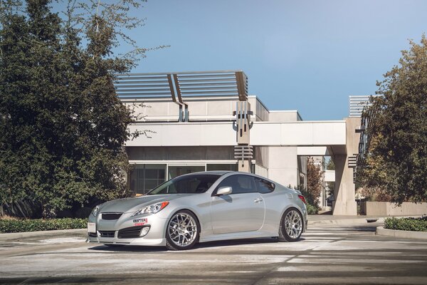
[{"label": "dark building window at far left, behind the car's hood", "polygon": [[135,165],[130,173],[130,190],[145,194],[165,181],[166,165]]}]

